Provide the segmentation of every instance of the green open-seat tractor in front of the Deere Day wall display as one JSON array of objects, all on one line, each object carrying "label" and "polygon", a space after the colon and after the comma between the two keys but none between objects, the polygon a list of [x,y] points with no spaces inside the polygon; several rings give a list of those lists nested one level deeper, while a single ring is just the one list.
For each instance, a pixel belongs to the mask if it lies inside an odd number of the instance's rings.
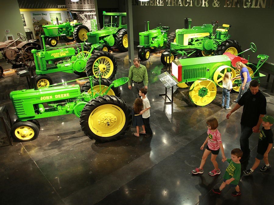
[{"label": "green open-seat tractor in front of the Deere Day wall display", "polygon": [[45,25],[42,26],[46,36],[46,43],[49,46],[57,45],[57,38],[62,37],[66,42],[82,41],[87,38],[87,32],[90,32],[88,27],[82,23],[78,23],[77,20],[72,22],[64,22],[59,24],[58,19],[56,18],[57,25]]}]

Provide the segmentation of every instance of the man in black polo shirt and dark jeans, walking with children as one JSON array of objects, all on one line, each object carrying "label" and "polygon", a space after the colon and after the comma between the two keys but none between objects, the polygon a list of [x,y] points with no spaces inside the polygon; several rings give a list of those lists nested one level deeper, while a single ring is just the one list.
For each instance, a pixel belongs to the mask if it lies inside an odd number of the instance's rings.
[{"label": "man in black polo shirt and dark jeans, walking with children", "polygon": [[241,162],[249,159],[249,141],[248,138],[252,132],[259,132],[260,125],[262,124],[262,117],[266,114],[266,99],[265,96],[259,91],[259,83],[257,80],[252,80],[249,85],[249,91],[244,93],[235,107],[227,114],[229,116],[237,109],[244,106],[241,117],[241,137],[240,145],[243,151]]}]

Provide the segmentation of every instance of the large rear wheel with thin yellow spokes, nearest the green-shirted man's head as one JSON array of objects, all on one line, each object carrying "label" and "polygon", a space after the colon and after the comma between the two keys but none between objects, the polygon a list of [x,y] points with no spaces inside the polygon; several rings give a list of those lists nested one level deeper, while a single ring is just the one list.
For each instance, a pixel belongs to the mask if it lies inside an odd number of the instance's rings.
[{"label": "large rear wheel with thin yellow spokes, nearest the green-shirted man's head", "polygon": [[86,63],[87,76],[99,77],[99,70],[102,78],[112,80],[117,73],[117,61],[111,53],[106,51],[95,52]]}]

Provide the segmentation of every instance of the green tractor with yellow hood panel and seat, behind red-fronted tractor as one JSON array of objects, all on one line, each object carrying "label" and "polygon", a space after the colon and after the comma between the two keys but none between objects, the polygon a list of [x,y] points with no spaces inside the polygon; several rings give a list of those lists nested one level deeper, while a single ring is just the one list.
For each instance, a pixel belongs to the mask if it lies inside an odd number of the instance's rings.
[{"label": "green tractor with yellow hood panel and seat, behind red-fronted tractor", "polygon": [[[213,21],[211,24],[203,24],[202,26],[193,26],[191,28],[191,19],[185,19],[185,29],[177,29],[174,42],[170,43],[170,49],[165,52],[170,56],[161,55],[161,62],[166,65],[170,64],[175,56],[178,59],[188,58],[192,54],[196,57],[222,55],[225,52],[237,55],[241,53],[241,46],[235,40],[230,39],[228,34],[231,25],[223,24],[218,27],[218,22]],[[213,33],[213,27],[216,27]],[[170,34],[174,36],[174,33]],[[172,40],[172,38],[171,38]],[[170,41],[171,41],[170,40]]]}]

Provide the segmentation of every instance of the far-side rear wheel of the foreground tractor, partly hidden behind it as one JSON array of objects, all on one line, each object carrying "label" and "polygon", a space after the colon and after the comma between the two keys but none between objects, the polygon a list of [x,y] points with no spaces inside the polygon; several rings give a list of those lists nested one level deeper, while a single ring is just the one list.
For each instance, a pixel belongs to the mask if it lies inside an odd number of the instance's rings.
[{"label": "far-side rear wheel of the foreground tractor, partly hidden behind it", "polygon": [[[108,87],[112,84],[111,80],[107,80],[106,78],[101,78],[101,91],[104,93],[105,90],[108,89]],[[99,78],[93,81],[93,90],[100,92],[100,84],[99,84]],[[106,87],[106,88],[104,88]],[[81,93],[84,91],[87,91],[88,93],[91,93],[90,90],[90,81],[86,82],[80,89]],[[104,89],[104,90],[103,90]],[[108,91],[107,95],[114,95],[117,97],[121,97],[121,90],[120,87],[111,87],[111,89]]]}]

